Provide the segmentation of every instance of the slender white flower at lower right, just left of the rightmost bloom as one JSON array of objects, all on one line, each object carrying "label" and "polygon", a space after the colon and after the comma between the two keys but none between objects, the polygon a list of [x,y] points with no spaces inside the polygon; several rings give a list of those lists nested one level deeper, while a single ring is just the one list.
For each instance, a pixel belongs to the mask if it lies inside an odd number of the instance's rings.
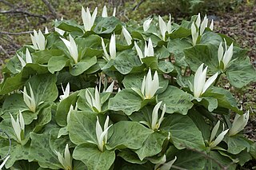
[{"label": "slender white flower at lower right, just left of the rightmost bloom", "polygon": [[223,140],[226,133],[229,131],[229,129],[226,129],[224,131],[224,126],[223,126],[222,132],[214,140],[214,137],[216,136],[216,134],[218,132],[219,125],[220,125],[220,121],[217,122],[217,124],[214,126],[213,130],[211,131],[210,141],[209,141],[210,148],[216,147]]}]

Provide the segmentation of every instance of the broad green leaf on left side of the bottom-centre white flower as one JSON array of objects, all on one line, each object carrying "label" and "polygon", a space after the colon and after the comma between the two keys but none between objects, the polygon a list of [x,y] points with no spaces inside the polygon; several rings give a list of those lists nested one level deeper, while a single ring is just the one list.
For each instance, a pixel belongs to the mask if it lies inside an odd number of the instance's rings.
[{"label": "broad green leaf on left side of the bottom-centre white flower", "polygon": [[88,143],[88,140],[97,144],[96,115],[88,112],[72,112],[67,130],[70,132],[70,140],[74,144]]}]

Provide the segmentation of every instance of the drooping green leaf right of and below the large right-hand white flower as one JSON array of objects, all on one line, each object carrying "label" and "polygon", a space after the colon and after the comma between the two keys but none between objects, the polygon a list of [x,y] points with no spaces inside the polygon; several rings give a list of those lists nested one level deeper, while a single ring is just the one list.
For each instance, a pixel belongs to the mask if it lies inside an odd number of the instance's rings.
[{"label": "drooping green leaf right of and below the large right-hand white flower", "polygon": [[242,111],[238,109],[237,101],[234,99],[230,91],[218,87],[214,87],[211,90],[206,91],[203,97],[214,97],[218,101],[218,106],[226,109],[231,109],[236,113],[242,114]]}]

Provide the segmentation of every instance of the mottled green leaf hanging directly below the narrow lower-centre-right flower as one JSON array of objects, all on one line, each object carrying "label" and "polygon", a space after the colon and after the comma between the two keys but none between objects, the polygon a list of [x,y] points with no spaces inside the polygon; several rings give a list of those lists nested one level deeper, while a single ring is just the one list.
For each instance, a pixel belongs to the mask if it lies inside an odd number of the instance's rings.
[{"label": "mottled green leaf hanging directly below the narrow lower-centre-right flower", "polygon": [[144,142],[142,148],[135,151],[138,154],[139,159],[144,160],[146,157],[155,156],[161,152],[164,140],[166,140],[166,136],[163,136],[161,133],[151,133]]}]

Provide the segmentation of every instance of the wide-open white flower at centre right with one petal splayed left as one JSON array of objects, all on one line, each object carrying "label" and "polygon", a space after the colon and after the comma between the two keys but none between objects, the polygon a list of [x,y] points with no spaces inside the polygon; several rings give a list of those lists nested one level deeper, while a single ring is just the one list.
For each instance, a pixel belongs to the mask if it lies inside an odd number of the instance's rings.
[{"label": "wide-open white flower at centre right with one petal splayed left", "polygon": [[138,93],[142,99],[150,99],[154,97],[154,94],[158,91],[159,89],[159,79],[158,79],[158,72],[154,72],[154,77],[152,79],[151,75],[151,70],[149,69],[149,72],[147,73],[146,76],[144,76],[143,81],[142,81],[142,89],[136,89],[132,88],[134,92]]}]

